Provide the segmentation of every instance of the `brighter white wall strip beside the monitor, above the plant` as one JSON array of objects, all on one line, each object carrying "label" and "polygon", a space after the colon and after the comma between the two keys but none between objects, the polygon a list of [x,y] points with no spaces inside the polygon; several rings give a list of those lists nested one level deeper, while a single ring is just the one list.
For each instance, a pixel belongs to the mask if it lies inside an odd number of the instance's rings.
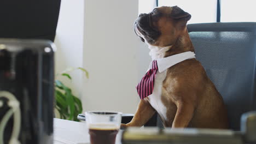
[{"label": "brighter white wall strip beside the monitor, above the plant", "polygon": [[[84,35],[84,1],[61,1],[59,21],[56,30],[55,73],[69,67],[83,67],[83,35]],[[75,95],[82,95],[83,81],[80,71],[71,73],[72,83],[67,78],[58,76]]]}]

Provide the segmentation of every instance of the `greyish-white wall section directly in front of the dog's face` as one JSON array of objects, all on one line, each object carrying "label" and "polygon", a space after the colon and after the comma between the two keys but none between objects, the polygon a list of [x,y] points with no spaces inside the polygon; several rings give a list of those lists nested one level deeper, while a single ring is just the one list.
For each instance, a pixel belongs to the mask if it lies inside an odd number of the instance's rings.
[{"label": "greyish-white wall section directly in front of the dog's face", "polygon": [[133,31],[138,1],[85,1],[84,110],[134,113],[139,97],[139,39]]}]

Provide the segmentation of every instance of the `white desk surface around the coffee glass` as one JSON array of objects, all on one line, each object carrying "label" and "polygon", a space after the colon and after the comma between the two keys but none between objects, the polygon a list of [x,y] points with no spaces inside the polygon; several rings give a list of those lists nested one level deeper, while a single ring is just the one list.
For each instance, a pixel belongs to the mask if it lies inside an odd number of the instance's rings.
[{"label": "white desk surface around the coffee glass", "polygon": [[[121,144],[121,132],[116,144]],[[89,144],[90,135],[85,122],[74,122],[54,118],[54,144]]]}]

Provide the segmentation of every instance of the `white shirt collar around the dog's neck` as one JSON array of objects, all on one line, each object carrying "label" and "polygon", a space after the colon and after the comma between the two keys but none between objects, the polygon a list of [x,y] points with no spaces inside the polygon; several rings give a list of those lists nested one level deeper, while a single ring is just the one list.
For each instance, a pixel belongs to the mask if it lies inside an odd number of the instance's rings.
[{"label": "white shirt collar around the dog's neck", "polygon": [[[158,71],[159,73],[162,73],[162,71],[165,71],[173,65],[190,58],[195,58],[195,53],[192,51],[182,52],[177,55],[172,55],[170,57],[156,59],[156,61],[158,62]],[[150,63],[150,68],[151,65],[152,63]]]}]

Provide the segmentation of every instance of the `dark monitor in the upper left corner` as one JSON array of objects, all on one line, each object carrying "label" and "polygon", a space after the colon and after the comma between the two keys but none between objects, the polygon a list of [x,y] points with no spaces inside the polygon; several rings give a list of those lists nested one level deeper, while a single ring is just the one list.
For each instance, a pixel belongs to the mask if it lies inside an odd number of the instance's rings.
[{"label": "dark monitor in the upper left corner", "polygon": [[54,41],[61,0],[1,0],[0,38]]}]

